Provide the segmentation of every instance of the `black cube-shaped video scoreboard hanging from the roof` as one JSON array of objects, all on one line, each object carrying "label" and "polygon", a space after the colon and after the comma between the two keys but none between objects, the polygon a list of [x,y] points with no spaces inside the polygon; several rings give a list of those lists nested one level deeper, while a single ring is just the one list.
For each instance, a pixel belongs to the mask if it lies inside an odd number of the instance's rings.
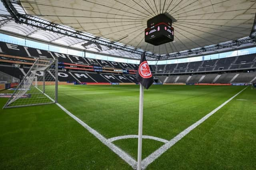
[{"label": "black cube-shaped video scoreboard hanging from the roof", "polygon": [[152,45],[161,45],[174,40],[174,28],[172,22],[175,20],[166,14],[159,14],[147,21],[145,29],[145,42]]}]

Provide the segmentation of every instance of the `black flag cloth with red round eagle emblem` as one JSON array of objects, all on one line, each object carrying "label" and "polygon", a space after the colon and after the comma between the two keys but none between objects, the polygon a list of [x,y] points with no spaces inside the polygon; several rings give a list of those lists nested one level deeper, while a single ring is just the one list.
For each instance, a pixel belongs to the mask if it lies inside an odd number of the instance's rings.
[{"label": "black flag cloth with red round eagle emblem", "polygon": [[151,84],[154,82],[152,72],[146,60],[145,53],[142,53],[140,58],[140,66],[136,73],[136,78],[140,84],[142,84],[146,89],[148,89]]}]

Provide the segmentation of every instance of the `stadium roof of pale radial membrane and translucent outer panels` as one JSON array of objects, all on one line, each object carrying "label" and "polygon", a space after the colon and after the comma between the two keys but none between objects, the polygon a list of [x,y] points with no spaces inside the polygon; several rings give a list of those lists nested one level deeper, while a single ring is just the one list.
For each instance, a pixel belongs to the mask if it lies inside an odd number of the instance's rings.
[{"label": "stadium roof of pale radial membrane and translucent outer panels", "polygon": [[[10,16],[12,8],[4,9],[6,4],[15,8],[20,23],[28,25],[16,23],[14,15]],[[138,59],[141,52],[147,51],[151,59],[166,59],[183,53],[183,57],[217,53],[227,47],[234,50],[241,44],[241,47],[255,46],[250,38],[242,39],[242,43],[237,41],[249,36],[255,38],[255,11],[255,0],[2,0],[0,29],[104,54]],[[177,20],[173,23],[174,41],[150,45],[144,41],[146,21],[164,12]],[[61,25],[65,25],[62,29],[72,28],[88,39],[74,36],[74,31],[65,35],[52,28]],[[190,55],[191,51],[194,53]]]}]

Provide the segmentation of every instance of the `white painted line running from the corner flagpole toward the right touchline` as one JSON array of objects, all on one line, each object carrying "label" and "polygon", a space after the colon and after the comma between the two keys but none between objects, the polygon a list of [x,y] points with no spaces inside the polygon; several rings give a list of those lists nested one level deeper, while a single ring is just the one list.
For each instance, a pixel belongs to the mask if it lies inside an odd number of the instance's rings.
[{"label": "white painted line running from the corner flagpole toward the right touchline", "polygon": [[[249,86],[247,86],[246,88],[248,88]],[[234,99],[238,94],[240,94],[241,92],[243,92],[246,88],[244,88],[243,90],[241,90],[240,92],[238,92],[236,95],[234,95],[232,98],[228,99],[226,102],[224,102],[223,104],[221,104],[219,107],[217,107],[216,109],[214,109],[213,111],[211,111],[210,113],[208,113],[207,115],[205,115],[202,119],[200,119],[199,121],[197,121],[196,123],[194,123],[193,125],[191,125],[190,127],[188,127],[187,129],[185,129],[184,131],[182,131],[180,134],[178,134],[176,137],[174,137],[173,139],[171,139],[168,143],[164,144],[162,147],[160,147],[159,149],[157,149],[156,151],[154,151],[152,154],[150,154],[148,157],[146,157],[144,160],[142,160],[142,169],[145,169],[149,164],[151,164],[154,160],[156,160],[156,158],[158,158],[160,155],[162,155],[164,152],[166,152],[166,150],[170,149],[170,147],[172,147],[175,143],[177,143],[178,141],[180,141],[180,139],[182,139],[184,136],[186,136],[188,133],[190,133],[190,131],[192,131],[193,129],[195,129],[198,125],[200,125],[201,123],[203,123],[206,119],[208,119],[211,115],[213,115],[214,113],[216,113],[216,111],[218,111],[219,109],[221,109],[223,106],[225,106],[228,102],[230,102],[232,99]]]}]

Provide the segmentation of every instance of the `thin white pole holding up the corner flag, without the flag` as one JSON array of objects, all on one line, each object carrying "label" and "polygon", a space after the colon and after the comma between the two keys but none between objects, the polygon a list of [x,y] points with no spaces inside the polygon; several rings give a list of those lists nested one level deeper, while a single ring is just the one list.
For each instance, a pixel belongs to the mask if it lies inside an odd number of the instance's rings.
[{"label": "thin white pole holding up the corner flag, without the flag", "polygon": [[144,87],[143,87],[142,84],[140,84],[139,132],[138,132],[138,164],[137,164],[137,170],[141,170],[143,100],[144,100]]}]

